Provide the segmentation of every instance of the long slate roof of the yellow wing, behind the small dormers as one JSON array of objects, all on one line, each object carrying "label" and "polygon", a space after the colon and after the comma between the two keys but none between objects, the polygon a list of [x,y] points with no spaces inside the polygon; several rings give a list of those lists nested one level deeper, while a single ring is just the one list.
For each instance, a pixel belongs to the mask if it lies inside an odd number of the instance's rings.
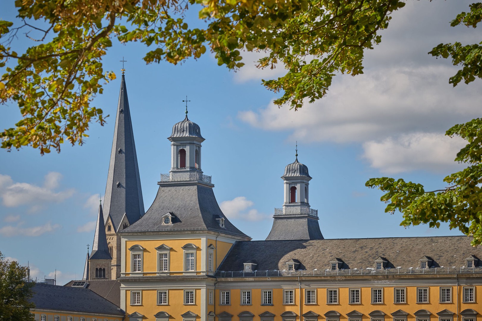
[{"label": "long slate roof of the yellow wing, behind the small dormers", "polygon": [[462,267],[469,255],[481,257],[482,248],[470,246],[468,236],[385,237],[366,239],[238,241],[218,270],[240,271],[243,263],[256,260],[257,270],[285,270],[286,262],[298,259],[300,270],[329,269],[330,260],[343,260],[340,269],[374,267],[385,257],[387,268],[418,267],[424,255],[433,258],[432,267]]}]

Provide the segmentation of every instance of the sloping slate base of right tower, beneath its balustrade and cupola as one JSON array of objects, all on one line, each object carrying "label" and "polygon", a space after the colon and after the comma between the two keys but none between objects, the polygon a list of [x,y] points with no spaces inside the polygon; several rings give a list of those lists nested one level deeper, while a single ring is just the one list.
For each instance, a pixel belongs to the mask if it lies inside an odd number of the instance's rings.
[{"label": "sloping slate base of right tower, beneath its balustrade and cupola", "polygon": [[318,220],[307,215],[300,217],[284,215],[275,216],[273,226],[266,238],[272,240],[322,240],[323,235],[320,231]]}]

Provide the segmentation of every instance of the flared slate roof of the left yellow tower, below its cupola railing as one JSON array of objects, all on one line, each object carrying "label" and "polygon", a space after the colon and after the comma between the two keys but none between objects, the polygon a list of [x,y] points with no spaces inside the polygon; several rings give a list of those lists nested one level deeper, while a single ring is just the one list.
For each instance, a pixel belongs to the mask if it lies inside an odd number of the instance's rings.
[{"label": "flared slate roof of the left yellow tower, below its cupola railing", "polygon": [[[171,212],[173,224],[162,225],[162,215]],[[225,218],[224,226],[219,220]],[[216,231],[249,238],[223,214],[213,189],[197,182],[160,184],[154,202],[137,222],[120,232],[142,231]]]}]

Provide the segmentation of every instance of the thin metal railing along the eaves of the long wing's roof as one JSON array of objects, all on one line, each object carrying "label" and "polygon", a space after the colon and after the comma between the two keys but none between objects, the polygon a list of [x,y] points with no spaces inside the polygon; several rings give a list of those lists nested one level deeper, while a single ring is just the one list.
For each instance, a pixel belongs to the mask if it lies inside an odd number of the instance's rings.
[{"label": "thin metal railing along the eaves of the long wing's roof", "polygon": [[367,275],[410,275],[410,274],[475,274],[482,273],[482,267],[477,268],[398,268],[398,269],[383,269],[375,270],[373,268],[366,269],[346,269],[346,270],[329,270],[329,269],[314,269],[314,270],[255,270],[252,272],[246,271],[216,271],[215,276],[219,278],[252,278],[252,277],[274,277],[274,276],[367,276]]}]

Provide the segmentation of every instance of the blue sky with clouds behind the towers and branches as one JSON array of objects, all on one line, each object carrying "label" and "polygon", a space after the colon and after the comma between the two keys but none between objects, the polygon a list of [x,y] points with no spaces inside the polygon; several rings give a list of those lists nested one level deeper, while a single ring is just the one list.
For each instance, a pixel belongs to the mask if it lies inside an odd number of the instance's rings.
[{"label": "blue sky with clouds behind the towers and branches", "polygon": [[[448,77],[456,69],[427,52],[441,42],[480,41],[476,30],[449,26],[469,3],[407,1],[383,31],[382,44],[366,53],[364,75],[335,77],[327,97],[296,112],[274,106],[278,95],[260,85],[260,79],[284,72],[281,65],[256,69],[262,54],[243,54],[246,65],[234,73],[217,66],[210,54],[176,66],[146,65],[141,44],[116,41],[103,63],[118,78],[93,103],[113,115],[124,57],[146,208],[160,173],[169,171],[166,138],[184,118],[187,95],[189,119],[206,139],[204,174],[212,176],[228,218],[254,240],[268,235],[274,207],[281,207],[280,177],[295,159],[295,141],[298,159],[313,177],[310,205],[319,210],[325,238],[458,235],[447,225],[400,227],[401,214],[384,213],[382,193],[364,183],[391,176],[440,188],[446,174],[461,168],[453,159],[463,141],[443,133],[480,116],[481,82],[452,88]],[[13,19],[13,4],[2,6],[0,18]],[[31,44],[21,36],[18,45]],[[20,119],[13,103],[1,109],[1,128]],[[34,277],[53,276],[55,269],[58,284],[81,277],[106,187],[114,121],[111,116],[103,127],[93,124],[83,146],[65,144],[60,154],[0,151],[0,251],[29,262]]]}]

